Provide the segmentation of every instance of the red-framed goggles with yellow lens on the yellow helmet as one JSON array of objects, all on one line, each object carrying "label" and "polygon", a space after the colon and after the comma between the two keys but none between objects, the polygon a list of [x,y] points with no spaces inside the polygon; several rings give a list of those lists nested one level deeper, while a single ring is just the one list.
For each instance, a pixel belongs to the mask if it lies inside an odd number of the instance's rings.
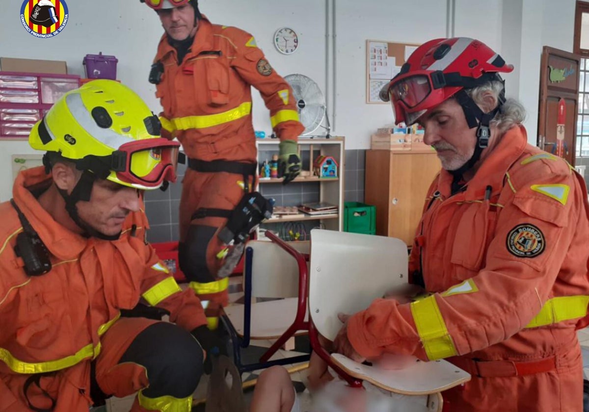
[{"label": "red-framed goggles with yellow lens on the yellow helmet", "polygon": [[180,143],[164,138],[128,142],[110,155],[110,170],[118,180],[137,187],[160,187],[176,181]]}]

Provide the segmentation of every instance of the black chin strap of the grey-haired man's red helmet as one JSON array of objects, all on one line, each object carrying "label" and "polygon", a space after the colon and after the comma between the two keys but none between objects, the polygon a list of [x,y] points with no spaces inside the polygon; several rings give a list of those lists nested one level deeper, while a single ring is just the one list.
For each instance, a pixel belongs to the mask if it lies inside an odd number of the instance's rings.
[{"label": "black chin strap of the grey-haired man's red helmet", "polygon": [[[454,182],[452,187],[455,187],[455,184],[458,184],[459,181],[462,180],[462,175],[465,172],[469,171],[474,167],[474,165],[481,159],[482,151],[487,148],[489,145],[489,139],[491,138],[491,128],[489,128],[489,124],[491,120],[497,115],[501,105],[505,102],[505,98],[503,93],[499,96],[497,107],[494,108],[492,111],[485,113],[478,107],[475,101],[466,93],[464,89],[459,91],[455,94],[456,101],[458,104],[461,105],[462,111],[464,111],[464,115],[466,117],[466,122],[468,123],[469,128],[477,128],[477,144],[475,145],[475,150],[472,153],[471,158],[466,161],[464,165],[456,170],[449,171],[454,176]],[[452,190],[454,193],[454,190]]]}]

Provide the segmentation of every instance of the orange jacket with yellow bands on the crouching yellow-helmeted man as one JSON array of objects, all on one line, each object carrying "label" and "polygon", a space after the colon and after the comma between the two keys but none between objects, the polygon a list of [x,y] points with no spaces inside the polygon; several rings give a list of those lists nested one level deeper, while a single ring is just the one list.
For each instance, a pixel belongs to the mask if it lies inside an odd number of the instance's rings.
[{"label": "orange jacket with yellow bands on the crouching yellow-helmeted man", "polygon": [[2,412],[19,410],[19,377],[55,370],[72,371],[61,384],[59,399],[67,403],[84,393],[90,401],[90,368],[80,366],[100,354],[101,335],[116,322],[119,310],[135,307],[142,297],[170,311],[170,321],[186,330],[206,324],[200,301],[190,290],[180,290],[145,242],[143,211],[129,215],[127,229],[116,241],[85,238],[55,222],[28,190],[48,184],[39,167],[22,171],[13,189],[16,205],[51,255],[47,274],[25,274],[14,251],[21,222],[9,202],[0,204]]}]

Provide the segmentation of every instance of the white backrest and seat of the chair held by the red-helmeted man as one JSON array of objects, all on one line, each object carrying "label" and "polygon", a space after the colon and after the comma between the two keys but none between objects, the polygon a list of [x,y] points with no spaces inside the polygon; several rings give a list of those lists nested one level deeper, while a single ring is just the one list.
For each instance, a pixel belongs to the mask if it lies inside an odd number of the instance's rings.
[{"label": "white backrest and seat of the chair held by the red-helmeted man", "polygon": [[[311,231],[309,308],[317,331],[334,340],[338,313],[354,314],[408,280],[407,248],[399,239],[348,232]],[[346,373],[383,390],[425,396],[470,379],[447,361],[416,361],[400,370],[370,367],[332,354]]]}]

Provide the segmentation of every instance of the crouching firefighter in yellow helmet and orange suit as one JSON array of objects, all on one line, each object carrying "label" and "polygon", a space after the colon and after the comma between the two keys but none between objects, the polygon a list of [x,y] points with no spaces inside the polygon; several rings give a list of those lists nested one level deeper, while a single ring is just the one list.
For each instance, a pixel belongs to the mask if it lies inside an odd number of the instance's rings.
[{"label": "crouching firefighter in yellow helmet and orange suit", "polygon": [[[68,92],[32,129],[45,167],[0,204],[0,411],[87,412],[135,392],[134,412],[191,410],[203,348],[220,343],[145,241],[143,191],[176,179],[179,144],[159,129],[111,80]],[[120,318],[142,298],[173,323]]]}]

